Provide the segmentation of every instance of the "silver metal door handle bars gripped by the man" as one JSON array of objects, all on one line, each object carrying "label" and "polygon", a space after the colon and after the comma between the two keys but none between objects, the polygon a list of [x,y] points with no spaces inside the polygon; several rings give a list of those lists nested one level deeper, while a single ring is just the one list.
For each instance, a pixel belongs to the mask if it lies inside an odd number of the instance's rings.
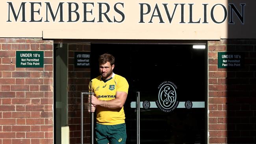
[{"label": "silver metal door handle bars gripped by the man", "polygon": [[[93,92],[81,92],[81,144],[83,144],[83,94],[93,95]],[[88,103],[91,107],[91,103]],[[94,144],[94,113],[91,113],[91,144]]]}]

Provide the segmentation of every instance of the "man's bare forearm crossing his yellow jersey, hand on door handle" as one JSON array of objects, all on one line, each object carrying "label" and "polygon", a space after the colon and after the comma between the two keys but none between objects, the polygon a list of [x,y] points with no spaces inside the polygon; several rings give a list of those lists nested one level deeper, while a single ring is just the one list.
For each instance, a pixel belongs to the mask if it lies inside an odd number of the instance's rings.
[{"label": "man's bare forearm crossing his yellow jersey, hand on door handle", "polygon": [[124,103],[127,98],[126,92],[116,92],[115,99],[113,100],[98,100],[96,96],[92,96],[89,98],[89,103],[91,102],[93,105],[100,105],[102,107],[106,107],[108,109],[119,109],[124,106]]}]

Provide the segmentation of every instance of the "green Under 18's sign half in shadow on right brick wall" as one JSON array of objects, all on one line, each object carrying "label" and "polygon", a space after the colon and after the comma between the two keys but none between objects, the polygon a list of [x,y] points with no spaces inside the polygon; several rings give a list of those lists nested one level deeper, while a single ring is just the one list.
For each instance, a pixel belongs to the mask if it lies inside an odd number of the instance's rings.
[{"label": "green Under 18's sign half in shadow on right brick wall", "polygon": [[243,66],[243,59],[243,53],[218,52],[218,68],[239,68]]}]

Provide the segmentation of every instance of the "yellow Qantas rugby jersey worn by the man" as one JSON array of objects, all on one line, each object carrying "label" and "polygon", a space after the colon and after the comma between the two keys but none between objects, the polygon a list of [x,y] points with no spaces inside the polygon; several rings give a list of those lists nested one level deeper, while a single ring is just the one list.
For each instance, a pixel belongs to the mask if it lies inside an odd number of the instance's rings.
[{"label": "yellow Qantas rugby jersey worn by the man", "polygon": [[[122,76],[112,74],[108,80],[102,80],[102,76],[98,76],[91,80],[89,90],[99,100],[113,100],[116,98],[116,92],[126,92],[128,94],[128,82]],[[104,125],[115,125],[124,123],[125,114],[124,107],[120,109],[108,109],[96,106],[96,122]]]}]

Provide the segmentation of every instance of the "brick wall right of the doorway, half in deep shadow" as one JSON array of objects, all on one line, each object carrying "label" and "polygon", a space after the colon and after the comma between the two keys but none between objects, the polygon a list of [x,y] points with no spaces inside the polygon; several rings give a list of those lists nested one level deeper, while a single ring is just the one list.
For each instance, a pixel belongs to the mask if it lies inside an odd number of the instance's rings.
[{"label": "brick wall right of the doorway, half in deep shadow", "polygon": [[[256,143],[256,40],[208,42],[209,143]],[[218,52],[243,53],[242,68],[217,68]]]}]

